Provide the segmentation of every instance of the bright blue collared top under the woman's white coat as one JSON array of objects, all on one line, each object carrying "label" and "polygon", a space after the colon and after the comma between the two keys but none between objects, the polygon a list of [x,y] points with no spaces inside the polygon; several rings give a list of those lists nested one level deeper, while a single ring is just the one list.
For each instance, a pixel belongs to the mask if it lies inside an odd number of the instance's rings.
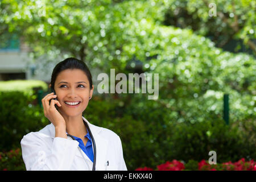
[{"label": "bright blue collared top under the woman's white coat", "polygon": [[93,162],[92,138],[90,138],[87,127],[86,127],[86,130],[87,130],[87,134],[84,137],[87,137],[88,141],[87,141],[85,146],[84,146],[84,142],[82,142],[81,138],[78,138],[78,137],[75,137],[75,136],[73,136],[73,137],[75,138],[75,140],[77,140],[77,142],[79,142],[79,147],[82,149],[82,151],[84,151],[84,153],[88,156],[88,158],[90,160],[92,160],[92,162]]}]

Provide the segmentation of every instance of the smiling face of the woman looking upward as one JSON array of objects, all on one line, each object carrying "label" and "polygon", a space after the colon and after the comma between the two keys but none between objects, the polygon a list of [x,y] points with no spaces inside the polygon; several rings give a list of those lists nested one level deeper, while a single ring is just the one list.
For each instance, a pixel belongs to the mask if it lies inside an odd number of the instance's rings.
[{"label": "smiling face of the woman looking upward", "polygon": [[57,100],[61,104],[60,113],[69,117],[82,114],[88,105],[89,97],[93,94],[87,76],[80,69],[61,71],[56,78],[54,88]]}]

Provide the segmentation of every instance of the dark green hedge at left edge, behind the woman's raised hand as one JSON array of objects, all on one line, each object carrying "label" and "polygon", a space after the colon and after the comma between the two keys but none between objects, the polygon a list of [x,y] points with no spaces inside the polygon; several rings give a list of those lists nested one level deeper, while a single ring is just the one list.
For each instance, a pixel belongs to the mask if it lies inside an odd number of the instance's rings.
[{"label": "dark green hedge at left edge, behind the woman's raised hand", "polygon": [[24,135],[48,124],[42,108],[32,105],[34,99],[34,95],[23,92],[0,92],[1,151],[19,147]]}]

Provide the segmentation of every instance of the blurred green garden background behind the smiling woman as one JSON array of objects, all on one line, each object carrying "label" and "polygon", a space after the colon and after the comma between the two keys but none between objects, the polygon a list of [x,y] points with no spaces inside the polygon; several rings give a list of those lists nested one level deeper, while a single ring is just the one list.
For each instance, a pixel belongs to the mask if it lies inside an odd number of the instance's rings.
[{"label": "blurred green garden background behind the smiling woman", "polygon": [[157,100],[94,89],[84,111],[119,135],[127,169],[178,160],[197,170],[209,151],[217,164],[256,160],[255,7],[253,0],[0,0],[0,170],[26,169],[20,140],[50,123],[41,100],[67,57],[88,65],[95,88],[111,68],[159,73]]}]

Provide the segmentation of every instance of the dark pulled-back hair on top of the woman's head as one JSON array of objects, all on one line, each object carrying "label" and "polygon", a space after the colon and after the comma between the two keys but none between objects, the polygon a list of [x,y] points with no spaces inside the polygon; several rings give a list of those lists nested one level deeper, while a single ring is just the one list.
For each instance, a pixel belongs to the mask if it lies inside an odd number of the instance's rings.
[{"label": "dark pulled-back hair on top of the woman's head", "polygon": [[56,81],[57,76],[61,71],[64,71],[65,69],[81,69],[81,71],[84,71],[85,75],[87,76],[90,84],[90,89],[92,89],[92,75],[90,74],[90,70],[87,67],[87,65],[74,57],[69,57],[63,61],[60,61],[55,68],[53,68],[52,71],[52,78],[51,78],[51,86],[54,88],[54,84]]}]

